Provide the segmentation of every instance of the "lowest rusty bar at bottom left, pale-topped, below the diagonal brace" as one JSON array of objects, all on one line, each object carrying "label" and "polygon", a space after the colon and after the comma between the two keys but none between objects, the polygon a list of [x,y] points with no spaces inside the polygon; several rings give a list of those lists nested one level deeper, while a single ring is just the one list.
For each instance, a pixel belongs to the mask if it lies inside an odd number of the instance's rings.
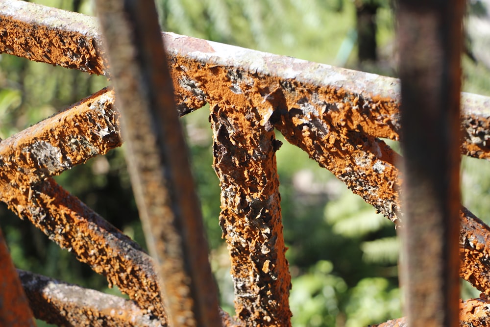
[{"label": "lowest rusty bar at bottom left, pale-topped, below the diagonal brace", "polygon": [[[58,326],[166,327],[135,302],[18,270],[34,316]],[[4,325],[2,325],[4,326]]]}]

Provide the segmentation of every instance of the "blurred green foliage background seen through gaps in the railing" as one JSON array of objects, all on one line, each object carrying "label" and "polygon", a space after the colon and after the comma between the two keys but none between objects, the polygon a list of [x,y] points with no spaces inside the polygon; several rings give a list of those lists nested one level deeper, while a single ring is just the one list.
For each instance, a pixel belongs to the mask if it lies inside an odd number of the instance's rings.
[{"label": "blurred green foliage background seen through gaps in the railing", "polygon": [[[32,1],[94,15],[90,0]],[[162,29],[310,61],[396,77],[389,0],[157,0]],[[463,89],[490,95],[490,4],[468,2]],[[107,86],[106,78],[0,55],[0,138]],[[182,119],[222,307],[234,314],[226,245],[218,225],[209,108]],[[277,137],[282,139],[280,133]],[[277,153],[295,327],[356,327],[398,318],[399,242],[392,223],[289,145]],[[397,150],[395,142],[390,145]],[[110,151],[56,177],[102,217],[144,245],[123,158]],[[490,165],[463,158],[463,203],[490,222]],[[0,203],[0,226],[18,268],[111,294],[107,282]],[[462,297],[478,297],[463,283]],[[50,326],[38,322],[38,326]]]}]

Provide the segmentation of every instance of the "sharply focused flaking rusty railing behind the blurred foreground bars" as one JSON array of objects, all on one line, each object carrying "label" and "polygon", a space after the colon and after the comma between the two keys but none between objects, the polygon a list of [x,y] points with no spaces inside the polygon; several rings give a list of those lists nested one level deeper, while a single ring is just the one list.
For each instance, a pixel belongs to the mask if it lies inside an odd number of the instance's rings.
[{"label": "sharply focused flaking rusty railing behind the blurred foreground bars", "polygon": [[[95,18],[5,0],[0,2],[0,21],[0,52],[109,74]],[[211,108],[214,168],[221,186],[220,225],[230,250],[237,312],[236,320],[221,312],[221,322],[224,326],[289,326],[291,286],[275,167],[280,142],[274,128],[395,226],[403,226],[401,173],[396,166],[400,156],[379,139],[399,139],[399,81],[172,33],[163,33],[163,40],[179,115],[206,102]],[[101,90],[2,140],[0,200],[106,276],[110,284],[118,285],[143,309],[121,304],[128,312],[150,319],[148,324],[166,326],[168,310],[176,311],[166,298],[171,295],[163,290],[167,286],[161,286],[160,278],[166,277],[157,274],[165,271],[159,268],[161,262],[155,263],[135,242],[50,178],[121,145],[114,99],[112,90]],[[461,153],[489,159],[490,98],[462,94],[461,104]],[[490,228],[464,207],[459,217],[460,277],[490,295]],[[177,236],[185,233],[179,228]],[[184,276],[195,273],[192,265],[185,265],[173,269],[180,269]],[[3,268],[0,274],[17,278]],[[21,274],[23,282],[25,274]],[[191,285],[189,278],[184,279]],[[31,299],[44,292],[33,283],[30,289],[24,284],[31,306],[38,305]],[[197,301],[194,292],[182,292]],[[4,302],[17,299],[14,293],[1,296]],[[70,307],[80,304],[73,303]],[[89,311],[105,317],[105,326],[123,324],[97,303],[82,305],[93,305]],[[484,300],[461,302],[461,321],[485,326],[489,318],[481,312],[488,312],[488,305]],[[189,307],[197,314],[193,305]],[[32,311],[48,321],[64,319],[56,310]],[[151,315],[144,317],[147,313]]]}]

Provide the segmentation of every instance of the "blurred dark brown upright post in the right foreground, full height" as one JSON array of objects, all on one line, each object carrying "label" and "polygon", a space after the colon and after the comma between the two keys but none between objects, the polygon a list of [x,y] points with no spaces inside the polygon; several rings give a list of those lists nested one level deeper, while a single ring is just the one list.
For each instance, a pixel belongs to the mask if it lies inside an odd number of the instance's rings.
[{"label": "blurred dark brown upright post in the right foreground, full height", "polygon": [[463,0],[399,0],[403,270],[409,326],[459,326]]}]

